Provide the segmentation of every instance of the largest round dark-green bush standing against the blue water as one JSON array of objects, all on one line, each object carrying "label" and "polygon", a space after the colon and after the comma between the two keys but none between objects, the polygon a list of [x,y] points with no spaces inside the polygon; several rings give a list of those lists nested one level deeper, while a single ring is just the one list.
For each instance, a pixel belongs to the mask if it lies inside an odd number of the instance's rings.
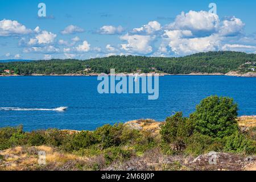
[{"label": "largest round dark-green bush standing against the blue water", "polygon": [[210,96],[196,106],[190,118],[195,122],[195,130],[210,137],[223,138],[238,130],[237,104],[232,98]]}]

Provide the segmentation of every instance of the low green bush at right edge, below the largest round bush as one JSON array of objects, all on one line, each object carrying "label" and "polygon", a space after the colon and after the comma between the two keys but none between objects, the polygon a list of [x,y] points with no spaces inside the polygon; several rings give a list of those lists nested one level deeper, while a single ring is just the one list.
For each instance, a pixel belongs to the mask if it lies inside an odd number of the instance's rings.
[{"label": "low green bush at right edge, below the largest round bush", "polygon": [[226,138],[225,151],[240,154],[256,154],[256,141],[238,131]]}]

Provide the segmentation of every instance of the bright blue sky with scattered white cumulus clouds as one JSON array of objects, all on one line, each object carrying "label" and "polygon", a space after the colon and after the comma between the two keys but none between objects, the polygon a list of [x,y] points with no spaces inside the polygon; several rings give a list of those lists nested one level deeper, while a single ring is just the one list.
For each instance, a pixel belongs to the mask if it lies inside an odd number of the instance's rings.
[{"label": "bright blue sky with scattered white cumulus clouds", "polygon": [[255,7],[236,0],[0,0],[0,59],[256,53]]}]

